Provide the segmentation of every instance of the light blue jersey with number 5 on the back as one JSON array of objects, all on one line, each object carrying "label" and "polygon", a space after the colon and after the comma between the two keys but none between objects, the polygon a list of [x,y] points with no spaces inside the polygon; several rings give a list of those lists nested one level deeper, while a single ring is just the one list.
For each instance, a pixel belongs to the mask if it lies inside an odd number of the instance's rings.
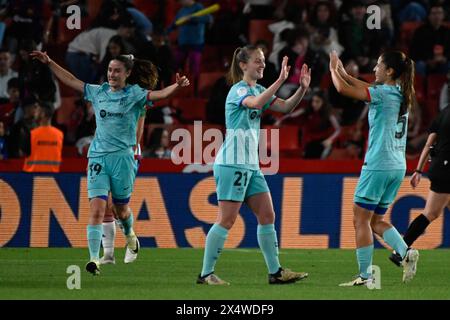
[{"label": "light blue jersey with number 5 on the back", "polygon": [[408,113],[399,117],[403,95],[399,86],[369,87],[369,147],[367,170],[405,170]]}]

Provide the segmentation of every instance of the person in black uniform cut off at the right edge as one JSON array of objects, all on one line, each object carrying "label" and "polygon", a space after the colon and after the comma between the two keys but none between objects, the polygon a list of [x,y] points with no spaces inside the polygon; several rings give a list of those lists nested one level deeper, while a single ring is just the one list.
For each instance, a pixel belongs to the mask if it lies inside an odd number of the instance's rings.
[{"label": "person in black uniform cut off at the right edge", "polygon": [[[410,183],[413,188],[419,184],[430,155],[431,164],[428,170],[431,181],[430,192],[423,214],[414,219],[403,236],[408,247],[411,247],[428,225],[442,214],[446,206],[450,209],[450,106],[443,109],[431,125],[427,143],[420,155],[417,169],[411,177]],[[394,252],[390,259],[400,266],[401,257],[398,254]]]}]

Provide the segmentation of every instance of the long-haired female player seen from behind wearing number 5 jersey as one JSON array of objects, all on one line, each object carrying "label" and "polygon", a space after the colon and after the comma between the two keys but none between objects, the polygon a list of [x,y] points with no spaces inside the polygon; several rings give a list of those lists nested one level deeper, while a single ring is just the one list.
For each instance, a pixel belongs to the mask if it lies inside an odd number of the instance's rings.
[{"label": "long-haired female player seen from behind wearing number 5 jersey", "polygon": [[414,62],[404,53],[383,53],[375,71],[375,85],[349,76],[337,57],[330,54],[330,71],[337,91],[369,102],[369,147],[356,188],[353,221],[356,231],[356,257],[359,275],[341,286],[364,285],[371,278],[373,233],[398,252],[402,259],[403,281],[415,273],[419,253],[383,220],[397,196],[406,171],[406,132],[408,113],[414,104]]}]

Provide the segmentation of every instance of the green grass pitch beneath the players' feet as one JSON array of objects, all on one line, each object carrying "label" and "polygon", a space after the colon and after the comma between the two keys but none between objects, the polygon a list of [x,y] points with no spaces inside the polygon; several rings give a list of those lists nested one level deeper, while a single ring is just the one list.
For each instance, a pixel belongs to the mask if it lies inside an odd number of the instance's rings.
[{"label": "green grass pitch beneath the players' feet", "polygon": [[[388,261],[389,251],[377,249],[374,264],[381,268],[381,289],[340,288],[357,273],[354,250],[281,250],[283,266],[307,271],[309,278],[271,286],[259,250],[224,250],[216,273],[227,287],[196,285],[203,250],[141,250],[138,260],[102,266],[100,276],[84,271],[87,249],[0,248],[0,299],[450,299],[450,250],[422,250],[416,278],[401,282],[402,269]],[[81,268],[81,289],[69,290],[69,265]]]}]

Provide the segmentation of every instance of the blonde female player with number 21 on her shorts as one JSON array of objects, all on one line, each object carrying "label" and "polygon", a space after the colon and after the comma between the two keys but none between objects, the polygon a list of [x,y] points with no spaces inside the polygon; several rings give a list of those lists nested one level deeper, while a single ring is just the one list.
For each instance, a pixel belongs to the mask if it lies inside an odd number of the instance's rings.
[{"label": "blonde female player with number 21 on her shorts", "polygon": [[269,108],[291,112],[309,87],[311,70],[303,65],[298,90],[287,100],[278,99],[274,94],[289,75],[287,57],[283,59],[278,80],[267,89],[257,84],[263,77],[264,59],[261,49],[251,45],[234,52],[228,75],[233,86],[225,103],[227,134],[214,163],[219,215],[206,237],[199,284],[228,284],[214,274],[214,266],[244,201],[258,220],[258,244],[269,271],[269,283],[290,283],[307,277],[303,272],[282,269],[278,261],[275,213],[259,168],[258,142],[261,114]]}]

